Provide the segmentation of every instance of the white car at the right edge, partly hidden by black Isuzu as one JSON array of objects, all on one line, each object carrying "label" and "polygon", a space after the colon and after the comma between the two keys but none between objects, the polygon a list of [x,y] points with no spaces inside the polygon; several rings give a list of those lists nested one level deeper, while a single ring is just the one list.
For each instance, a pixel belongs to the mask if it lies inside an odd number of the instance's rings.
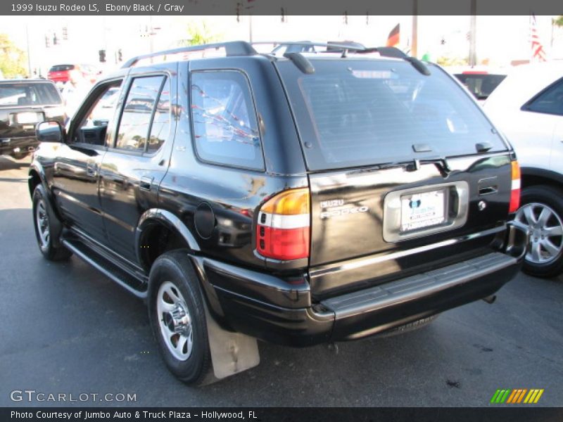
[{"label": "white car at the right edge, partly hidden by black Isuzu", "polygon": [[484,110],[517,151],[522,172],[518,222],[531,231],[524,271],[563,271],[563,61],[520,65]]}]

